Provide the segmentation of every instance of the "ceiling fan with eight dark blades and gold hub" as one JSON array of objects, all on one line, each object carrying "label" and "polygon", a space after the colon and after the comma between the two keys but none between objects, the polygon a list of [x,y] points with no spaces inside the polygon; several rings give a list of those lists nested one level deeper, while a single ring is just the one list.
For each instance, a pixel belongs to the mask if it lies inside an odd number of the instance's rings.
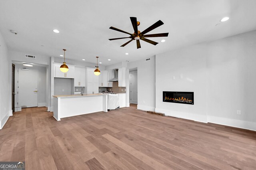
[{"label": "ceiling fan with eight dark blades and gold hub", "polygon": [[146,33],[154,30],[155,28],[158,28],[159,26],[162,26],[164,23],[159,20],[158,22],[156,22],[155,24],[153,24],[152,26],[148,27],[146,30],[140,32],[138,30],[138,26],[140,25],[140,22],[137,21],[137,18],[136,17],[130,17],[131,19],[131,22],[132,22],[132,27],[134,29],[134,33],[133,34],[130,34],[128,32],[125,32],[123,30],[120,30],[118,28],[114,28],[114,27],[110,27],[109,29],[111,30],[116,30],[116,31],[119,31],[119,32],[123,32],[125,34],[129,34],[130,37],[123,37],[123,38],[112,38],[112,39],[108,39],[108,40],[119,40],[119,39],[124,39],[124,38],[131,38],[130,41],[124,43],[123,45],[121,45],[120,47],[124,47],[125,45],[127,45],[128,43],[132,42],[133,40],[136,40],[136,43],[137,43],[137,49],[140,48],[140,40],[143,40],[145,42],[148,42],[148,43],[151,43],[153,45],[156,45],[158,44],[158,42],[154,42],[152,40],[148,40],[146,38],[148,37],[167,37],[169,33],[160,33],[160,34],[148,34],[148,35],[145,35]]}]

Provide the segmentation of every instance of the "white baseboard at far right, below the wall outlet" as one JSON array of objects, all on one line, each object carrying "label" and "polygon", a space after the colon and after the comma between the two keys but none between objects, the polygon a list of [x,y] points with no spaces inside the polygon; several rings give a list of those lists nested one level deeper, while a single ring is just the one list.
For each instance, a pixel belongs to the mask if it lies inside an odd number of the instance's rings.
[{"label": "white baseboard at far right, below the wall outlet", "polygon": [[215,123],[218,125],[225,125],[229,127],[243,128],[243,129],[256,131],[255,122],[241,121],[237,119],[229,119],[229,118],[215,117],[215,116],[208,116],[208,122]]}]

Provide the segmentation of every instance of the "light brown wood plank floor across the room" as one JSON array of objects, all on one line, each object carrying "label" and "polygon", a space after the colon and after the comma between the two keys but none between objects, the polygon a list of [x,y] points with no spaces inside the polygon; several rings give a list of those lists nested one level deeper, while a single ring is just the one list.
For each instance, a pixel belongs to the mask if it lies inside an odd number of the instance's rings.
[{"label": "light brown wood plank floor across the room", "polygon": [[135,105],[56,121],[22,109],[0,130],[0,161],[26,170],[256,169],[256,132],[162,117]]}]

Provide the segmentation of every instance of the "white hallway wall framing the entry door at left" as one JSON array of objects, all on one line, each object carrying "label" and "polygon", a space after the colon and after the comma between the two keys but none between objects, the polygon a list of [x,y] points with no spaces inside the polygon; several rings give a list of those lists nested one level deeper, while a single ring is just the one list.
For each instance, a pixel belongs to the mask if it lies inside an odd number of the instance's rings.
[{"label": "white hallway wall framing the entry door at left", "polygon": [[[15,64],[15,107],[18,107],[18,68],[24,68],[24,65]],[[28,69],[37,69],[38,70],[38,107],[47,106],[47,93],[46,87],[46,67],[27,67]]]}]

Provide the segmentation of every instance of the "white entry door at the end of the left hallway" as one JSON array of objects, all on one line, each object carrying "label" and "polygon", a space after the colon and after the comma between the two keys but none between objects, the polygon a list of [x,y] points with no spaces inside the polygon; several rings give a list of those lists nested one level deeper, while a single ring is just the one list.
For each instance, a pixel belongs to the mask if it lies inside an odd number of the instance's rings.
[{"label": "white entry door at the end of the left hallway", "polygon": [[18,69],[18,107],[38,107],[38,70]]}]

